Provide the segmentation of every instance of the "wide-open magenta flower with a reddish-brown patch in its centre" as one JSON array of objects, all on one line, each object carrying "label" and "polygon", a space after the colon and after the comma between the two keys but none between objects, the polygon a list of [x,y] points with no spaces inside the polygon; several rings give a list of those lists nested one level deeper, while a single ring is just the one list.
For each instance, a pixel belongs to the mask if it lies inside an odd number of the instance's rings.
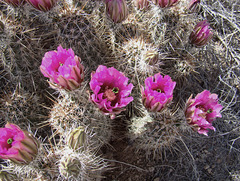
[{"label": "wide-open magenta flower with a reddish-brown patch in its centre", "polygon": [[128,78],[115,68],[100,65],[91,76],[90,88],[93,94],[90,99],[105,115],[111,115],[114,119],[133,101],[133,97],[128,97],[133,85],[128,84]]}]

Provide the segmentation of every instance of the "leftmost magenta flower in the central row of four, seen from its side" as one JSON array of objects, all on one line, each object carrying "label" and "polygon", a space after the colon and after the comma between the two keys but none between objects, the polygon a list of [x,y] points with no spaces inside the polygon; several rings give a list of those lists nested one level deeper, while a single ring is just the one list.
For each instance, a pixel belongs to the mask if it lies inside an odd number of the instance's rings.
[{"label": "leftmost magenta flower in the central row of four, seen from its side", "polygon": [[50,78],[50,84],[65,90],[80,87],[84,78],[83,66],[80,58],[74,55],[72,49],[63,49],[45,53],[40,70],[45,77]]}]

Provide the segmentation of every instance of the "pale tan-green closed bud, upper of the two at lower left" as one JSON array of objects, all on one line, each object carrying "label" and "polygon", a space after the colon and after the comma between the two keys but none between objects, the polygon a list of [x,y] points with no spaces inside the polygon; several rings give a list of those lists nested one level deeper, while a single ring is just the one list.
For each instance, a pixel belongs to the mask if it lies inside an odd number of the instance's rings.
[{"label": "pale tan-green closed bud, upper of the two at lower left", "polygon": [[84,127],[80,126],[70,133],[68,138],[68,146],[74,150],[77,150],[84,145],[85,140],[85,129]]}]

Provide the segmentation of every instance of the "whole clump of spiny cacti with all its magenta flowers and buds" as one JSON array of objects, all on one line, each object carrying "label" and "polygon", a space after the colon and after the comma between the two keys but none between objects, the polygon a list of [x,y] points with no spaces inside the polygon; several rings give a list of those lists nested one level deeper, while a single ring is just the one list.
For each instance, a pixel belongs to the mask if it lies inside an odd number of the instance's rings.
[{"label": "whole clump of spiny cacti with all its magenta flowers and buds", "polygon": [[[198,144],[189,140],[214,139],[220,124],[238,119],[239,39],[229,40],[233,49],[225,42],[238,31],[220,31],[209,7],[204,0],[0,2],[0,180],[132,179],[126,165],[153,167],[154,180],[162,165],[179,175],[186,155],[199,180],[195,167],[204,161],[194,159]],[[122,162],[118,142],[141,160]],[[172,151],[183,156],[173,160]],[[115,167],[123,174],[108,171],[109,162],[122,164]]]}]

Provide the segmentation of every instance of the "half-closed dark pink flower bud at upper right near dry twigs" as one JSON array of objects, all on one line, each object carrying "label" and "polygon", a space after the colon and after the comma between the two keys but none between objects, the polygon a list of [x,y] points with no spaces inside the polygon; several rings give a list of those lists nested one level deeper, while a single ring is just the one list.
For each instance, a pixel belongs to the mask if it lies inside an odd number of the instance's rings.
[{"label": "half-closed dark pink flower bud at upper right near dry twigs", "polygon": [[213,37],[213,32],[207,20],[199,22],[190,34],[190,43],[197,47],[206,45]]}]

